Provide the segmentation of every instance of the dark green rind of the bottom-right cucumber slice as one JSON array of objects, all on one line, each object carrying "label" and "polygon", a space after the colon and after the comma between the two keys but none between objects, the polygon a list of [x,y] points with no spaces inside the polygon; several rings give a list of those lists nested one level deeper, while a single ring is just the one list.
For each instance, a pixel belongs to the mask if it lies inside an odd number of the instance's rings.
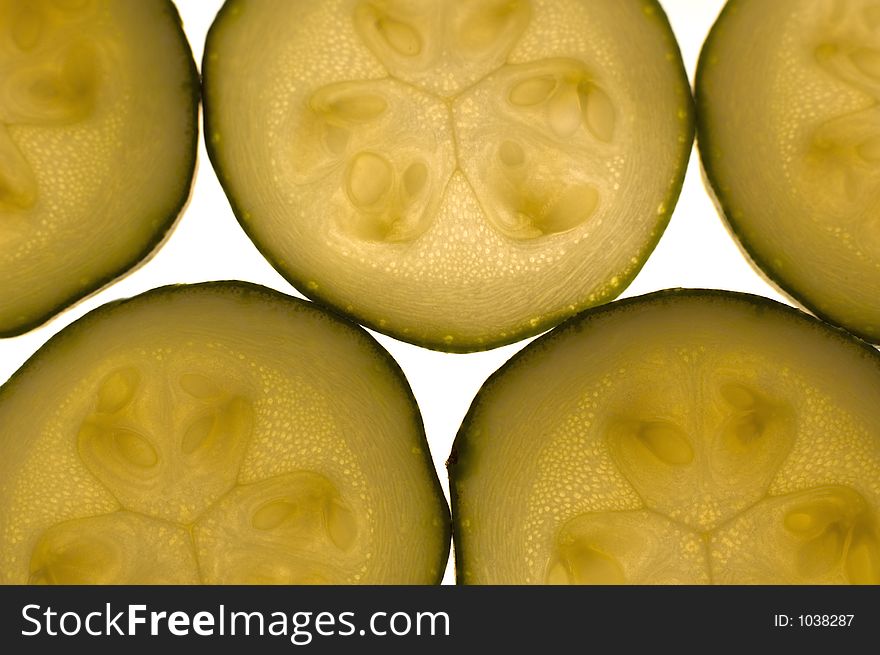
[{"label": "dark green rind of the bottom-right cucumber slice", "polygon": [[455,578],[457,584],[470,584],[465,579],[464,573],[464,562],[467,559],[467,551],[462,544],[461,539],[456,537],[456,535],[462,532],[462,526],[458,523],[458,509],[460,504],[459,482],[467,477],[470,473],[471,467],[475,464],[473,460],[479,456],[478,452],[474,449],[475,444],[472,443],[473,438],[469,436],[469,433],[472,424],[482,411],[482,404],[485,396],[489,394],[496,385],[503,382],[504,376],[507,372],[523,366],[528,366],[530,359],[540,357],[544,351],[553,348],[554,342],[557,339],[562,338],[570,332],[583,331],[589,327],[589,324],[593,319],[614,314],[621,310],[626,310],[632,305],[662,305],[669,301],[680,299],[702,299],[707,302],[713,300],[723,300],[725,302],[734,301],[750,307],[756,314],[761,314],[763,312],[777,312],[780,315],[787,315],[791,320],[800,322],[805,327],[820,332],[826,338],[833,339],[847,347],[855,347],[859,349],[861,354],[867,360],[873,362],[874,366],[877,368],[878,374],[880,374],[880,351],[871,346],[868,342],[853,336],[843,328],[821,321],[795,307],[791,307],[790,305],[770,300],[764,296],[756,296],[738,291],[723,291],[721,289],[664,289],[642,296],[634,296],[607,305],[594,307],[572,316],[547,334],[535,339],[532,343],[507,360],[501,368],[492,373],[492,375],[490,375],[480,387],[471,406],[468,408],[467,414],[465,414],[465,417],[462,420],[461,427],[458,429],[455,441],[452,444],[452,450],[446,461],[446,468],[449,474],[449,497],[452,505],[452,534],[455,546]]}]

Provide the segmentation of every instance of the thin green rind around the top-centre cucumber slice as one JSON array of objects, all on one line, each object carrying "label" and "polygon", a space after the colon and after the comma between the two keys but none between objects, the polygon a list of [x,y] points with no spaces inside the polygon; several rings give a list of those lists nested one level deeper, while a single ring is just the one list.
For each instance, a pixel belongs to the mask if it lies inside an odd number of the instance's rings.
[{"label": "thin green rind around the top-centre cucumber slice", "polygon": [[307,298],[319,302],[322,305],[329,307],[340,316],[356,321],[357,323],[360,323],[361,325],[368,327],[371,330],[375,330],[376,332],[386,334],[389,337],[393,337],[400,341],[405,341],[407,343],[421,346],[423,348],[429,348],[431,350],[439,350],[449,353],[471,353],[491,350],[492,348],[498,348],[500,346],[506,346],[511,343],[522,341],[523,339],[527,339],[529,337],[533,337],[537,334],[541,334],[542,332],[547,331],[555,325],[558,325],[561,321],[574,314],[577,314],[580,311],[589,309],[590,307],[595,307],[601,303],[614,300],[614,298],[622,293],[633,281],[633,279],[635,279],[639,271],[642,270],[645,263],[648,261],[648,257],[650,257],[651,253],[654,251],[654,248],[657,247],[657,243],[660,241],[660,238],[663,236],[663,233],[665,232],[666,227],[669,224],[669,220],[672,217],[672,212],[675,209],[675,205],[678,202],[679,195],[681,194],[681,189],[684,185],[684,174],[687,170],[687,164],[690,159],[691,149],[694,142],[694,100],[691,93],[690,82],[688,81],[687,77],[687,71],[684,68],[684,62],[681,58],[681,49],[679,48],[678,42],[675,39],[675,35],[672,31],[672,26],[669,24],[669,19],[667,18],[666,13],[660,6],[659,0],[645,0],[645,2],[646,6],[653,7],[653,12],[651,15],[656,18],[659,27],[663,30],[664,37],[668,41],[669,46],[678,53],[679,78],[677,92],[679,93],[679,95],[682,96],[682,100],[685,101],[687,112],[687,116],[681,120],[684,127],[683,136],[685,137],[684,141],[681,143],[681,148],[678,154],[681,164],[681,173],[678,175],[678,178],[673,181],[673,184],[669,188],[669,192],[665,199],[666,210],[663,213],[658,214],[657,221],[654,224],[654,238],[651,241],[645,243],[644,250],[637,257],[638,263],[633,266],[632,270],[627,275],[619,276],[620,285],[618,287],[609,291],[606,295],[600,297],[594,302],[584,300],[580,303],[575,303],[574,309],[562,309],[557,312],[538,317],[534,323],[529,322],[526,325],[522,325],[518,328],[509,330],[507,332],[507,335],[504,337],[497,337],[495,339],[487,341],[455,340],[452,343],[448,343],[443,338],[445,334],[437,334],[433,337],[413,336],[411,332],[405,333],[402,329],[398,330],[395,329],[393,326],[380,324],[378,321],[371,320],[367,316],[357,316],[349,313],[345,310],[345,305],[347,304],[345,301],[341,299],[336,299],[333,297],[332,294],[326,294],[320,289],[310,288],[307,284],[306,279],[298,277],[293,271],[286,269],[280,263],[280,261],[273,255],[270,245],[261,242],[257,238],[255,231],[252,230],[248,225],[248,221],[245,218],[245,211],[241,208],[232,192],[232,182],[226,174],[222,163],[222,158],[220,154],[220,150],[222,150],[222,148],[218,148],[217,145],[213,143],[213,140],[210,138],[210,135],[212,134],[211,84],[214,78],[212,72],[213,65],[211,64],[211,54],[216,48],[215,41],[218,38],[218,34],[223,30],[224,23],[234,20],[234,16],[232,16],[233,11],[231,10],[231,8],[235,5],[240,5],[241,0],[226,0],[224,2],[223,6],[220,8],[220,11],[217,12],[217,16],[214,19],[214,22],[211,24],[211,27],[208,30],[208,36],[205,39],[205,54],[202,60],[202,103],[204,104],[203,121],[205,132],[205,145],[208,151],[208,159],[211,161],[211,165],[214,167],[214,171],[217,173],[217,178],[220,181],[220,186],[223,187],[223,191],[225,192],[226,198],[228,199],[230,207],[232,208],[232,213],[235,215],[236,220],[238,221],[239,225],[241,225],[241,228],[244,230],[245,234],[247,234],[248,238],[253,242],[254,246],[257,248],[260,254],[263,255],[266,261],[269,262],[272,268],[274,268],[297,291],[299,291]]}]

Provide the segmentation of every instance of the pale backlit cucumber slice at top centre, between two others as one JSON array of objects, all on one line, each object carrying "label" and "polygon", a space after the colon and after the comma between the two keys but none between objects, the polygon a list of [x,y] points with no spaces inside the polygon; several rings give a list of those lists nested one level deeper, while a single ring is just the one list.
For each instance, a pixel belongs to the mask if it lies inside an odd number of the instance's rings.
[{"label": "pale backlit cucumber slice at top centre, between two others", "polygon": [[203,72],[211,161],[272,265],[446,351],[619,294],[693,137],[654,0],[230,0]]}]

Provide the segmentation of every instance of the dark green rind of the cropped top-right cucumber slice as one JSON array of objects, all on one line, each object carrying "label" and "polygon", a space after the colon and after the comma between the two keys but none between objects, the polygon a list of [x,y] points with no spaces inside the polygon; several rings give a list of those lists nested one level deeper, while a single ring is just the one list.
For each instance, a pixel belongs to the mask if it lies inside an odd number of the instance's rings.
[{"label": "dark green rind of the cropped top-right cucumber slice", "polygon": [[730,210],[730,208],[733,206],[733,203],[728,197],[730,194],[725,195],[724,192],[721,190],[721,186],[715,183],[715,180],[718,180],[719,176],[717,174],[717,170],[711,156],[712,130],[707,124],[707,108],[710,102],[703,92],[703,79],[704,76],[707,74],[707,62],[714,48],[715,39],[717,38],[721,30],[724,29],[725,18],[729,14],[735,12],[738,6],[742,3],[743,0],[727,0],[727,3],[721,10],[721,13],[718,14],[718,18],[715,19],[715,23],[712,25],[712,29],[709,31],[709,36],[706,37],[706,41],[703,43],[703,47],[700,50],[700,57],[697,61],[697,72],[694,78],[694,95],[697,109],[696,139],[697,150],[700,155],[700,166],[703,169],[703,183],[706,186],[706,190],[709,193],[709,196],[711,197],[715,208],[718,210],[718,214],[723,219],[727,231],[740,247],[740,252],[742,252],[742,254],[745,256],[746,260],[749,262],[755,272],[758,273],[765,282],[770,284],[774,289],[779,291],[792,302],[796,303],[800,308],[810,312],[814,316],[817,316],[826,323],[840,325],[846,328],[846,330],[850,334],[853,334],[865,341],[871,343],[880,343],[880,341],[877,340],[877,337],[862,332],[857,328],[844,326],[842,323],[820,310],[809,300],[809,298],[805,294],[802,294],[800,291],[798,291],[798,286],[800,285],[798,285],[796,282],[792,282],[792,280],[785,273],[781,273],[778,271],[771,273],[771,271],[773,271],[773,268],[770,266],[770,263],[759,254],[757,242],[750,241],[745,235],[745,230],[739,230],[737,228],[736,222],[732,218],[733,212]]}]

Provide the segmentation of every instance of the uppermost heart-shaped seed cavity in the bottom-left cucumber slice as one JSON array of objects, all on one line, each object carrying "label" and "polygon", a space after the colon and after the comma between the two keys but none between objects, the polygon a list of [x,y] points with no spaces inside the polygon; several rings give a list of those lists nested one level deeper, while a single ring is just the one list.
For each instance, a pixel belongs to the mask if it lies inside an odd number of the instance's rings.
[{"label": "uppermost heart-shaped seed cavity in the bottom-left cucumber slice", "polygon": [[97,385],[77,452],[127,509],[187,523],[235,484],[254,420],[249,399],[203,374],[153,385],[122,367]]}]

